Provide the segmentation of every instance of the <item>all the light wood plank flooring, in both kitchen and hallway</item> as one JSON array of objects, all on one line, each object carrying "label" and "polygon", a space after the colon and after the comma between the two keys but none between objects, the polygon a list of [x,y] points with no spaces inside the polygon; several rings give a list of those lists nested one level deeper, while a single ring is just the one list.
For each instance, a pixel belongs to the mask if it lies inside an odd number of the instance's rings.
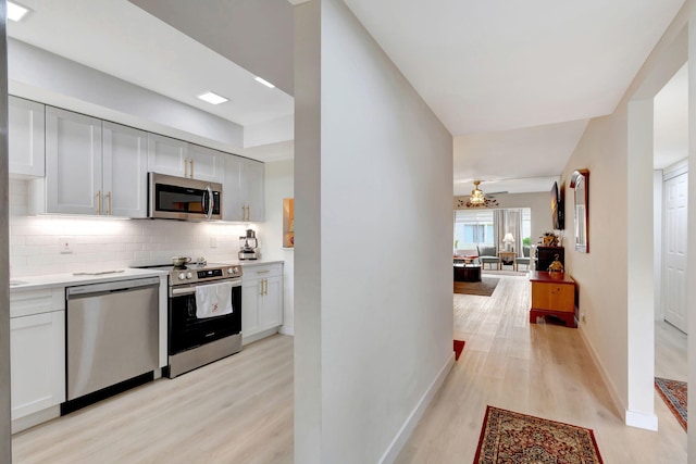
[{"label": "all the light wood plank flooring, in both kitchen and hallway", "polygon": [[[486,404],[592,428],[608,464],[686,462],[686,434],[657,394],[658,432],[624,426],[579,331],[529,324],[526,277],[496,277],[492,297],[455,296],[455,338],[467,346],[397,463],[472,462]],[[680,379],[686,337],[671,330],[656,327],[656,375]],[[293,452],[285,336],[13,438],[21,464],[285,464]]]}]

